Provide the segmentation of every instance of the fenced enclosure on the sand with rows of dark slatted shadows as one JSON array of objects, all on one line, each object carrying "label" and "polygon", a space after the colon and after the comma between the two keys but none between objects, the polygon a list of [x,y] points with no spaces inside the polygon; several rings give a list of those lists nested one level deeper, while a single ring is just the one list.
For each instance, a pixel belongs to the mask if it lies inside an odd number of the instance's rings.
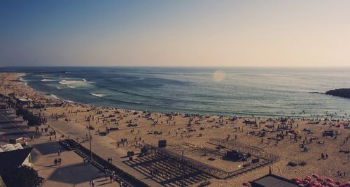
[{"label": "fenced enclosure on the sand with rows of dark slatted shadows", "polygon": [[[155,181],[158,181],[164,186],[172,186],[172,184],[182,184],[184,182],[187,186],[193,185],[206,179],[228,179],[238,174],[243,174],[254,170],[255,168],[262,167],[269,163],[274,162],[277,158],[272,154],[268,154],[262,149],[256,147],[249,147],[245,144],[241,144],[236,141],[227,141],[221,139],[211,139],[209,144],[214,144],[218,147],[223,147],[225,150],[237,150],[244,154],[251,154],[255,158],[259,158],[258,163],[251,163],[246,167],[239,168],[233,171],[221,170],[218,167],[208,165],[207,163],[200,162],[188,156],[183,156],[175,151],[170,151],[167,148],[155,147],[151,144],[144,144],[140,148],[143,149],[142,156],[135,160],[129,160],[125,163],[134,167],[139,172],[146,172],[153,176]],[[223,156],[218,154],[217,151],[209,148],[188,148],[183,149],[185,151],[193,151],[191,149],[202,149],[203,152],[208,154],[215,154],[217,156]],[[183,180],[182,180],[183,179]]]}]

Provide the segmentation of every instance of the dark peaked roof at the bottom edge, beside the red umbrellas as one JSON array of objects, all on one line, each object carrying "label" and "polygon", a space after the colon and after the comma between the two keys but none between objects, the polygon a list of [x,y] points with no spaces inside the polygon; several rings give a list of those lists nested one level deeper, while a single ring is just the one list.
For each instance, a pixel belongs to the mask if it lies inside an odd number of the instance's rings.
[{"label": "dark peaked roof at the bottom edge, beside the red umbrellas", "polygon": [[251,186],[253,187],[295,187],[298,186],[295,181],[285,179],[283,177],[276,176],[274,174],[267,174],[264,177],[256,179],[251,182]]}]

